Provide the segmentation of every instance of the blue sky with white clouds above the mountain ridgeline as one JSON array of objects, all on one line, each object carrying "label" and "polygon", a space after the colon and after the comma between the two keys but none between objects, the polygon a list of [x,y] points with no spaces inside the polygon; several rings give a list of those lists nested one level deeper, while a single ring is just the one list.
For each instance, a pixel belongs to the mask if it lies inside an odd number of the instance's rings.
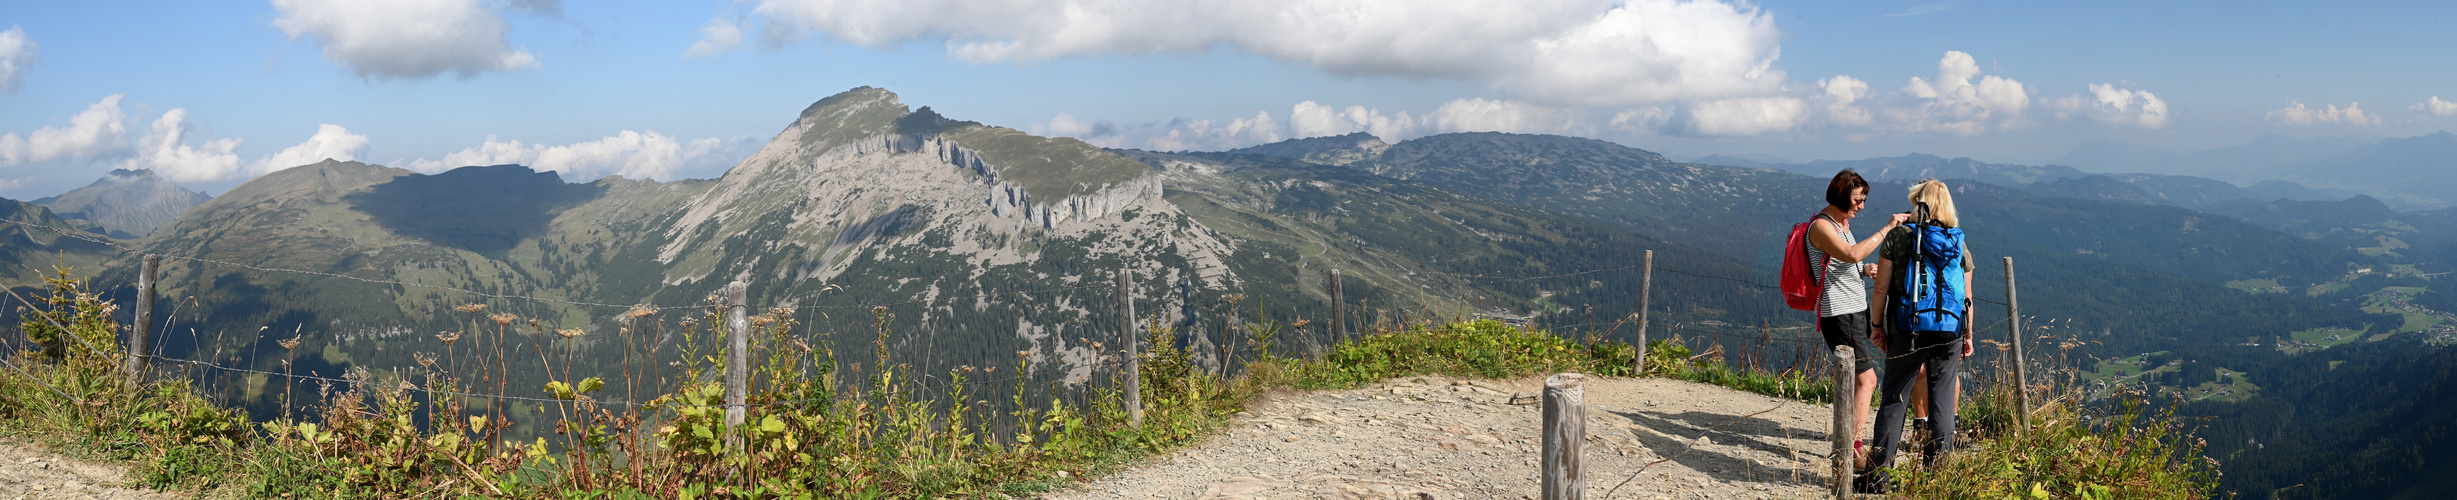
[{"label": "blue sky with white clouds above the mountain ridgeline", "polygon": [[[882,86],[1111,147],[1504,130],[2049,162],[2457,123],[2445,2],[275,0],[0,5],[0,196],[349,157],[715,176]],[[1919,78],[1919,81],[1914,81]]]}]

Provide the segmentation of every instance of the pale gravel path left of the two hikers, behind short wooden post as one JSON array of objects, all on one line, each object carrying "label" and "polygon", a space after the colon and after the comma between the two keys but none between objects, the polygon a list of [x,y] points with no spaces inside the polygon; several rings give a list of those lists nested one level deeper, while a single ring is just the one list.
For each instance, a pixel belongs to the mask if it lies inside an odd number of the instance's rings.
[{"label": "pale gravel path left of the two hikers, behind short wooden post", "polygon": [[[1541,387],[1408,377],[1268,395],[1206,444],[1047,498],[1536,498],[1541,404],[1511,402]],[[1828,414],[1715,385],[1590,377],[1587,498],[1631,475],[1612,498],[1816,498]]]}]

